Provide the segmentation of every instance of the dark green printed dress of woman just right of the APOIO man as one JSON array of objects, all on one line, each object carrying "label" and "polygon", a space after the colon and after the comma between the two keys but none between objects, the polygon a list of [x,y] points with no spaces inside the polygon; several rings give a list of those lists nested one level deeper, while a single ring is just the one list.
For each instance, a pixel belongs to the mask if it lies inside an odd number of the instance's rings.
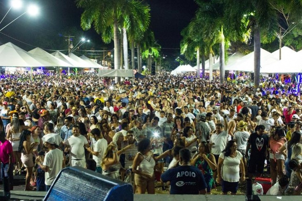
[{"label": "dark green printed dress of woman just right of the APOIO man", "polygon": [[[207,154],[207,157],[209,158],[210,154]],[[200,169],[201,173],[203,174],[204,180],[207,184],[207,192],[211,192],[211,189],[216,187],[215,180],[213,177],[213,171],[210,168],[209,164],[204,159],[198,158],[195,163],[195,166]]]}]

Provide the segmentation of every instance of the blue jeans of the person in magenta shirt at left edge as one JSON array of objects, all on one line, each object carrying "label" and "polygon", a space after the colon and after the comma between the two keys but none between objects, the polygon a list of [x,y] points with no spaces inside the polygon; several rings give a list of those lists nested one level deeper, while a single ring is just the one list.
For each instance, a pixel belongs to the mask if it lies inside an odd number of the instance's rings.
[{"label": "blue jeans of the person in magenta shirt at left edge", "polygon": [[10,191],[13,190],[13,164],[1,163],[1,177],[4,185],[4,193],[6,197],[10,197]]}]

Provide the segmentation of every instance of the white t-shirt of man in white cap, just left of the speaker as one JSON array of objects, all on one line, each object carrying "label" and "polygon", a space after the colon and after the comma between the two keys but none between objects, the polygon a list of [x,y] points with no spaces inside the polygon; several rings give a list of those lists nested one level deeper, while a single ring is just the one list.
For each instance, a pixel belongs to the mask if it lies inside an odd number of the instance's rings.
[{"label": "white t-shirt of man in white cap, just left of the speaker", "polygon": [[45,185],[50,186],[56,176],[62,169],[63,151],[59,149],[49,150],[45,154],[43,165],[48,166],[48,172],[45,172]]}]

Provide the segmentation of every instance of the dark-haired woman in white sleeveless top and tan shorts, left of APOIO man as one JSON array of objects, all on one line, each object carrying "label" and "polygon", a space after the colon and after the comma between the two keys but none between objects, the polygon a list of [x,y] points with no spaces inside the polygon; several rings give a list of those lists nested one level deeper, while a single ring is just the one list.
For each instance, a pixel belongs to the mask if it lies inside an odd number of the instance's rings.
[{"label": "dark-haired woman in white sleeveless top and tan shorts, left of APOIO man", "polygon": [[148,138],[141,140],[137,145],[138,153],[136,154],[132,172],[134,174],[134,181],[137,187],[138,194],[155,193],[154,187],[154,167],[155,161],[164,157],[164,154],[154,157],[151,149],[151,142]]}]

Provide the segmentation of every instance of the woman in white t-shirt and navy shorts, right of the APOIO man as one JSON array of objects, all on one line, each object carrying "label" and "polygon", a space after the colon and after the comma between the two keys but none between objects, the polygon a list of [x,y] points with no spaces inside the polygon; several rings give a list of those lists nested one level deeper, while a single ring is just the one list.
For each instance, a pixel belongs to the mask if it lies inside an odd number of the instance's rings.
[{"label": "woman in white t-shirt and navy shorts, right of the APOIO man", "polygon": [[229,191],[231,192],[231,195],[237,193],[240,170],[242,173],[241,180],[244,181],[245,169],[242,154],[237,151],[236,142],[230,140],[226,144],[225,150],[219,155],[217,168],[217,182],[222,184],[222,192],[224,195]]}]

